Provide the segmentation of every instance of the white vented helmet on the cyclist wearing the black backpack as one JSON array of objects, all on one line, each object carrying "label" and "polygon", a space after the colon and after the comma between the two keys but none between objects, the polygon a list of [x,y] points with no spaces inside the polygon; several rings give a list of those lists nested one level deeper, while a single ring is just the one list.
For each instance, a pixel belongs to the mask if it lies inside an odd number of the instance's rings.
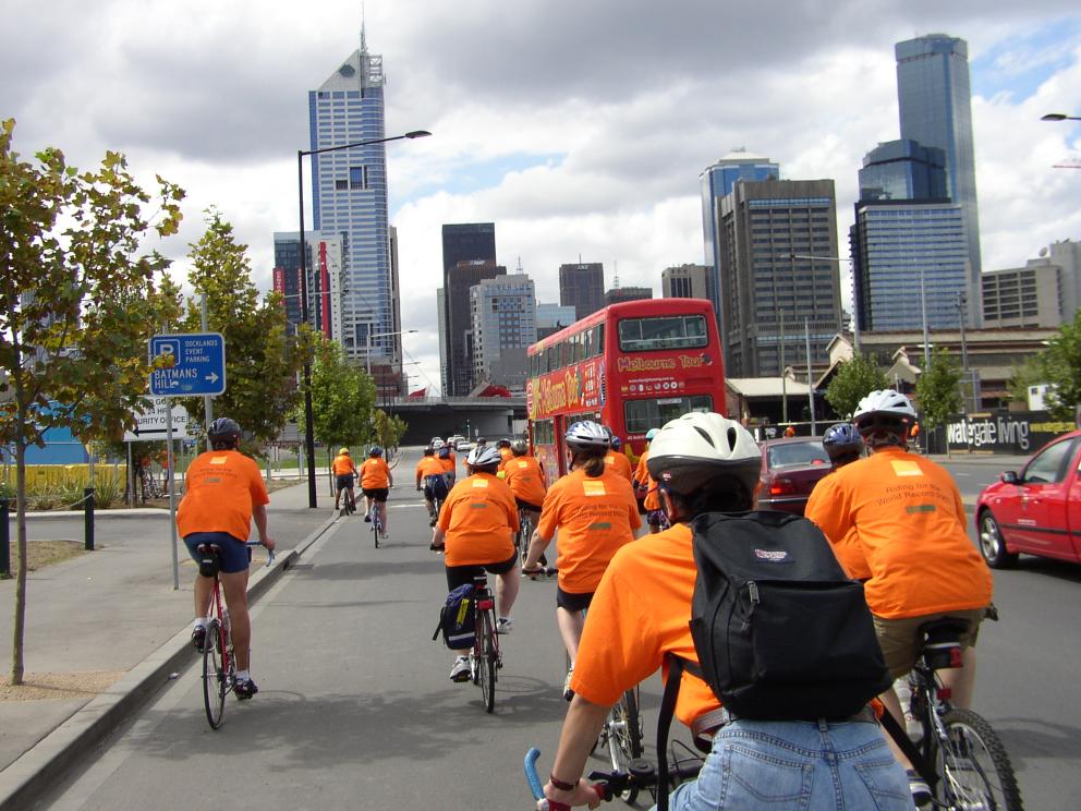
[{"label": "white vented helmet on the cyclist wearing the black backpack", "polygon": [[692,412],[664,425],[649,445],[649,475],[672,493],[692,495],[741,487],[750,501],[758,484],[762,450],[751,433],[715,413]]}]

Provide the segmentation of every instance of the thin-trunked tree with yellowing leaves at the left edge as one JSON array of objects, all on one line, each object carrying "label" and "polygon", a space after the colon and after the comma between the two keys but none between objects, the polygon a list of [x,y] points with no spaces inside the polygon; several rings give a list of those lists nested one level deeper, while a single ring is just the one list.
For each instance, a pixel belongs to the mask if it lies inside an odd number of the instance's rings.
[{"label": "thin-trunked tree with yellowing leaves at the left edge", "polygon": [[96,171],[49,147],[24,161],[14,120],[0,124],[0,440],[15,450],[16,549],[10,682],[23,681],[26,619],[26,448],[66,426],[84,441],[133,424],[146,391],[146,347],[163,312],[144,250],[177,232],[184,192],[144,191],[118,153]]}]

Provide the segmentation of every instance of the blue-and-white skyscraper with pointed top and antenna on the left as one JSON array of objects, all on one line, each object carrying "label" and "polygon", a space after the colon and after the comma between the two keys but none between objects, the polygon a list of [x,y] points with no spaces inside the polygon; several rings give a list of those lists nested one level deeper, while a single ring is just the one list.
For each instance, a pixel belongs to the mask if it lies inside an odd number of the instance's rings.
[{"label": "blue-and-white skyscraper with pointed top and antenna on the left", "polygon": [[[308,93],[311,148],[386,137],[382,57],[361,47],[317,90]],[[313,155],[314,229],[342,241],[341,334],[347,355],[377,378],[401,364],[401,316],[391,268],[385,144]],[[313,294],[316,288],[311,288]],[[373,337],[369,340],[369,336]]]}]

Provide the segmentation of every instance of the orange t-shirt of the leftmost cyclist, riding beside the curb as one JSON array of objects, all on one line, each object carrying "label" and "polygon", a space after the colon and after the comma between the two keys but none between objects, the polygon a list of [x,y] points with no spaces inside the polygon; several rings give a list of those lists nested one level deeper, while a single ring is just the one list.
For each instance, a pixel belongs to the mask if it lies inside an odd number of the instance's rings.
[{"label": "orange t-shirt of the leftmost cyclist, riding beside the curb", "polygon": [[184,497],[177,508],[181,537],[193,532],[228,532],[247,541],[252,508],[270,504],[259,465],[238,450],[210,450],[192,460]]}]

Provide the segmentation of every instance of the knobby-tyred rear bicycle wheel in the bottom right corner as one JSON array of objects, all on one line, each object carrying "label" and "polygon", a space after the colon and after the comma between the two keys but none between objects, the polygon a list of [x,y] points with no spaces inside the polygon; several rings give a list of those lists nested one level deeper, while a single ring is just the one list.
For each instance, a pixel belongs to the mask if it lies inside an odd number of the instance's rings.
[{"label": "knobby-tyred rear bicycle wheel in the bottom right corner", "polygon": [[998,734],[971,710],[943,717],[946,742],[939,753],[938,799],[946,808],[1021,811],[1021,789]]}]

